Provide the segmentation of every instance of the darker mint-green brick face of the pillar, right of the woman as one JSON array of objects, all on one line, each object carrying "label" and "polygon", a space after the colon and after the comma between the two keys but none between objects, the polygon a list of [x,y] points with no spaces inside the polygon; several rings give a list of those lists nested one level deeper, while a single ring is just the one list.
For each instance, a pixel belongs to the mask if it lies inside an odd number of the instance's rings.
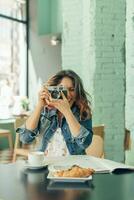
[{"label": "darker mint-green brick face of the pillar, right of the woman", "polygon": [[125,0],[96,1],[94,122],[106,125],[106,157],[123,161]]}]

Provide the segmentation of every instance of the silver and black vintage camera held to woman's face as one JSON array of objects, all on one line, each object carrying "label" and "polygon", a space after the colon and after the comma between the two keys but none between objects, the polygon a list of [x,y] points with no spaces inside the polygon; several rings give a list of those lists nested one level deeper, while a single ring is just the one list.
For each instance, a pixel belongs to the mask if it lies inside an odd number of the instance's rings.
[{"label": "silver and black vintage camera held to woman's face", "polygon": [[47,89],[53,99],[62,99],[61,92],[67,97],[67,88],[64,86],[48,86]]}]

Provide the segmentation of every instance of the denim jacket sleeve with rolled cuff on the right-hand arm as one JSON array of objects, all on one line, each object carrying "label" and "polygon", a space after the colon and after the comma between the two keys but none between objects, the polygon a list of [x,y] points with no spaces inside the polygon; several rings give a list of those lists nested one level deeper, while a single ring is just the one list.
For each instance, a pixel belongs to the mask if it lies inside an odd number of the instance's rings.
[{"label": "denim jacket sleeve with rolled cuff on the right-hand arm", "polygon": [[77,137],[72,137],[73,143],[75,142],[80,149],[85,150],[92,142],[92,120],[87,119],[80,121],[81,127]]}]

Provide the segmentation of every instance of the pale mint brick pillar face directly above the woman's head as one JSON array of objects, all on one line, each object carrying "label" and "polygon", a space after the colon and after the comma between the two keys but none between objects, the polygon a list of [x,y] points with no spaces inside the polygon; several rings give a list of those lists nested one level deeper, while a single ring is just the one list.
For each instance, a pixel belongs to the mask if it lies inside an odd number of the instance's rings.
[{"label": "pale mint brick pillar face directly above the woman's head", "polygon": [[[76,67],[80,73],[82,63],[82,1],[63,0],[62,65]],[[79,15],[78,15],[79,13]],[[72,48],[73,47],[73,48]]]}]

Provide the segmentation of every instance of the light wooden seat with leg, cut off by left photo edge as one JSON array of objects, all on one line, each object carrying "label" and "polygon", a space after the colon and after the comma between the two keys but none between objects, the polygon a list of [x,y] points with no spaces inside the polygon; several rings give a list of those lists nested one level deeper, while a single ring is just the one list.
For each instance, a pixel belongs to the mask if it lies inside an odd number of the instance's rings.
[{"label": "light wooden seat with leg, cut off by left photo edge", "polygon": [[8,139],[9,148],[13,151],[13,138],[10,130],[0,129],[0,137],[6,137]]}]

